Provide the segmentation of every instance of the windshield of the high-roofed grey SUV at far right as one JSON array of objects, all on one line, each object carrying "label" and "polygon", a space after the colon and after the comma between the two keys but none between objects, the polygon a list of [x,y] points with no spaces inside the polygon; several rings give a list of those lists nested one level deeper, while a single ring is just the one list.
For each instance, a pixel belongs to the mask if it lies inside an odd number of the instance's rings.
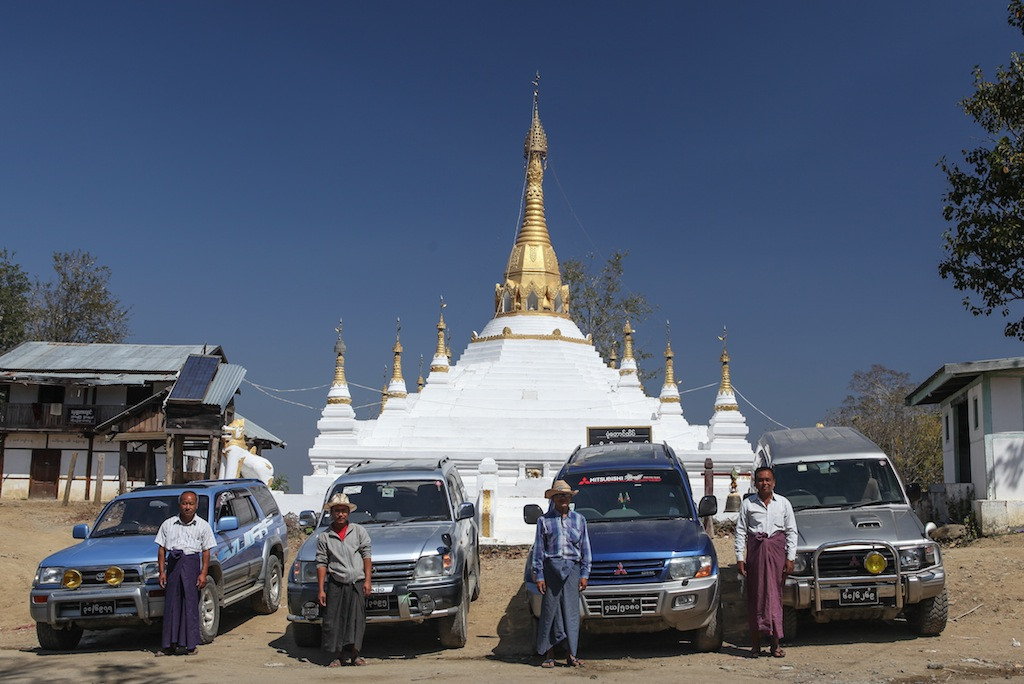
[{"label": "windshield of the high-roofed grey SUV at far right", "polygon": [[903,490],[887,459],[841,459],[775,464],[775,491],[794,510],[903,504]]}]

